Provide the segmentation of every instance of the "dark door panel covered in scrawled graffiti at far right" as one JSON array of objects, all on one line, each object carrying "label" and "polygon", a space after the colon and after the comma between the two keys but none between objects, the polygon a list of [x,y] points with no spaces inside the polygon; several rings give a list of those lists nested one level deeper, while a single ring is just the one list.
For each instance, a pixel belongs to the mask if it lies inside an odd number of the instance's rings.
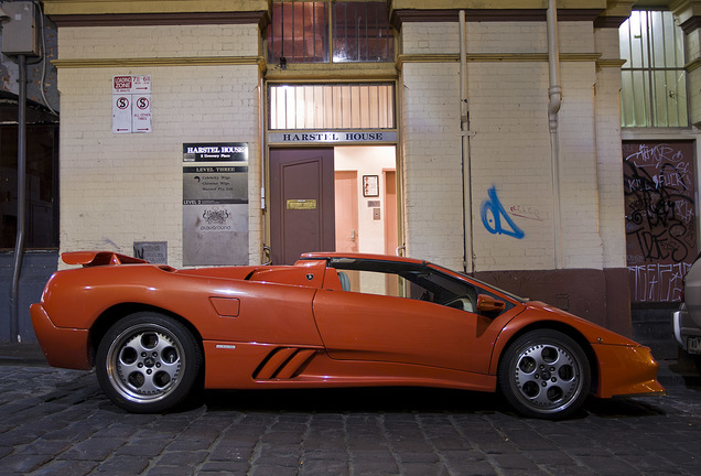
[{"label": "dark door panel covered in scrawled graffiti at far right", "polygon": [[697,257],[692,142],[624,142],[626,253],[633,302],[681,300]]}]

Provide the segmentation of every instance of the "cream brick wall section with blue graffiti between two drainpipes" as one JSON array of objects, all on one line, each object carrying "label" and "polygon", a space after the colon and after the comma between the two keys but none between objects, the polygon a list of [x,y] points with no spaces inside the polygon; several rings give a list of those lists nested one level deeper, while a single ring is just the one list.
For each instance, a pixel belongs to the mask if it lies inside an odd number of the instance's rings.
[{"label": "cream brick wall section with blue graffiti between two drainpipes", "polygon": [[548,65],[470,64],[468,82],[475,269],[552,268]]}]

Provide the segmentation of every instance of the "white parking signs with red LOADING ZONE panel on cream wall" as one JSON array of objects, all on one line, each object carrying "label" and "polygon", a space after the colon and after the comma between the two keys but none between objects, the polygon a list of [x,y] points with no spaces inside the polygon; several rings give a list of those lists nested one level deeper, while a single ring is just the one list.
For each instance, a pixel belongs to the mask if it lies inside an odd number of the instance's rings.
[{"label": "white parking signs with red LOADING ZONE panel on cream wall", "polygon": [[151,132],[151,76],[112,77],[112,133]]}]

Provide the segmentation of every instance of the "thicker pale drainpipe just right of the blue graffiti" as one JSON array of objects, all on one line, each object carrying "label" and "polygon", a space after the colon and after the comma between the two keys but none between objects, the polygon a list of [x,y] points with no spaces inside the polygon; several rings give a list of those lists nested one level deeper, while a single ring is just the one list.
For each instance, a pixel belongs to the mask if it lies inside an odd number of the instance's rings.
[{"label": "thicker pale drainpipe just right of the blue graffiti", "polygon": [[550,148],[552,158],[552,202],[554,223],[554,267],[563,268],[562,255],[562,218],[560,204],[560,137],[558,119],[562,104],[562,86],[560,85],[560,46],[558,41],[558,9],[556,0],[548,0],[548,66],[550,87],[548,89],[548,119],[550,126]]}]

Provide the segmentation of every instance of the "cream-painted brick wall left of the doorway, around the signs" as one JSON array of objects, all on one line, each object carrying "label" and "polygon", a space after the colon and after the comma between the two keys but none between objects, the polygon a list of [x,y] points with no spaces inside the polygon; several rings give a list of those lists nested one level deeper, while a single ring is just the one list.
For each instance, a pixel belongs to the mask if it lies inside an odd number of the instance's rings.
[{"label": "cream-painted brick wall left of the doorway, around the signs", "polygon": [[[63,28],[60,60],[258,55],[256,25]],[[258,66],[61,67],[61,249],[132,252],[168,241],[182,264],[182,144],[248,142],[260,182]],[[111,133],[111,78],[151,75],[151,133]],[[260,259],[260,191],[249,186],[250,260]]]}]

